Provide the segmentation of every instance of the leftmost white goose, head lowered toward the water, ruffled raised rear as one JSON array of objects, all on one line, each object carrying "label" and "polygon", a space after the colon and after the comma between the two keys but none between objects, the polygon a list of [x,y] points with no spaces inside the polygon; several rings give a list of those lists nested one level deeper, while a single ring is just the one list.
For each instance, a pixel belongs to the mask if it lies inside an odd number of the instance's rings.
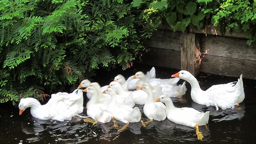
[{"label": "leftmost white goose, head lowered toward the water, ruffled raised rear", "polygon": [[44,105],[41,105],[37,99],[23,98],[18,107],[19,115],[26,108],[31,107],[31,115],[41,120],[71,120],[73,116],[79,116],[78,114],[83,112],[82,90],[76,89],[70,94],[66,92],[51,94],[51,98]]}]

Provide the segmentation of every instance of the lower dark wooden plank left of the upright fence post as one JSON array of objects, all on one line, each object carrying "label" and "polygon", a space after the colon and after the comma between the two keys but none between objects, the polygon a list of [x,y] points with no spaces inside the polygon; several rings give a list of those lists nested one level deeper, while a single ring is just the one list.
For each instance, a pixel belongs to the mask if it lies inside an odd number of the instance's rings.
[{"label": "lower dark wooden plank left of the upright fence post", "polygon": [[148,48],[140,63],[180,69],[180,51]]}]

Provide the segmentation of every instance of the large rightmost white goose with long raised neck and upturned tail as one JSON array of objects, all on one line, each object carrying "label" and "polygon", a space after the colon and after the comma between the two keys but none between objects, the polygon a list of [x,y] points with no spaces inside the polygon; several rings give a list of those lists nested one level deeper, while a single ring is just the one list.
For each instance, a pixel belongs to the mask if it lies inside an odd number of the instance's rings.
[{"label": "large rightmost white goose with long raised neck and upturned tail", "polygon": [[208,90],[201,90],[200,85],[190,72],[182,70],[172,75],[179,77],[191,85],[191,98],[194,102],[208,106],[215,106],[225,110],[234,108],[235,105],[241,103],[245,98],[242,82],[242,74],[237,82],[230,82],[221,85],[212,85]]}]

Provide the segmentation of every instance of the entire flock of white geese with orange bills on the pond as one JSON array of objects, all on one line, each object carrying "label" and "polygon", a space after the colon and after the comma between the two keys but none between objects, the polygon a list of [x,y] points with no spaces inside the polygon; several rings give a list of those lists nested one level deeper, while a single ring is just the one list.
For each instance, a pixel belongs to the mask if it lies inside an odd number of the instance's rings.
[{"label": "entire flock of white geese with orange bills on the pond", "polygon": [[[196,103],[227,109],[239,106],[245,98],[242,75],[238,81],[227,84],[213,85],[208,90],[201,90],[197,79],[187,71],[180,71],[172,75],[174,78],[155,78],[155,67],[144,74],[136,72],[127,80],[122,75],[114,77],[109,85],[100,86],[97,82],[83,80],[73,93],[59,92],[51,94],[49,101],[41,105],[34,98],[22,98],[18,105],[19,114],[31,107],[33,117],[41,120],[65,121],[83,112],[83,92],[87,92],[89,101],[86,104],[87,116],[85,122],[95,125],[98,122],[113,121],[114,127],[119,126],[116,120],[126,123],[119,128],[123,131],[131,122],[141,122],[146,126],[151,121],[163,121],[167,117],[174,123],[196,128],[198,139],[203,135],[198,126],[204,126],[209,121],[209,113],[199,112],[194,108],[177,108],[170,97],[182,97],[186,93],[185,81],[191,85],[191,97]],[[177,82],[185,80],[182,85]],[[144,105],[143,112],[148,121],[142,121],[142,112],[136,104]]]}]

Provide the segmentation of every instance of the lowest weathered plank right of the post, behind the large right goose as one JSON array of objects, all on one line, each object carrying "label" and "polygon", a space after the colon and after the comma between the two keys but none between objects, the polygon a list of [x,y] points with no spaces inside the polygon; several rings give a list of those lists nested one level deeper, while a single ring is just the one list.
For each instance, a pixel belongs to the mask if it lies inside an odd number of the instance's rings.
[{"label": "lowest weathered plank right of the post, behind the large right goose", "polygon": [[201,61],[200,72],[256,80],[256,61],[206,54]]}]

